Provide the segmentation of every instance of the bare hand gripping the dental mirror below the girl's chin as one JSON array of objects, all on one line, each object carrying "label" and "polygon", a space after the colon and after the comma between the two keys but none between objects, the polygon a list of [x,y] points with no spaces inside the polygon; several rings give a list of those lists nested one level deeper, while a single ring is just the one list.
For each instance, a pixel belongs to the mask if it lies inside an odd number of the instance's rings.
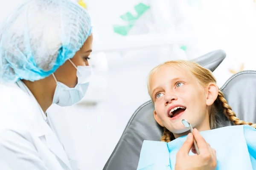
[{"label": "bare hand gripping the dental mirror below the girl's chin", "polygon": [[189,133],[186,141],[176,155],[175,170],[215,170],[217,166],[216,152],[205,142],[197,129],[193,130],[195,140],[198,144],[199,154],[189,156],[189,150],[193,149],[193,135]]}]

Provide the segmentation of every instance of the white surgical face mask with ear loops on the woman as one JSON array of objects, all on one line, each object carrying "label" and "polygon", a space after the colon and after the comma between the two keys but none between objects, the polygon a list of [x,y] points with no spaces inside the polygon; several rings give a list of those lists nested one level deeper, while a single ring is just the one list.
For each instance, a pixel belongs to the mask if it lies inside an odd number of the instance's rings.
[{"label": "white surgical face mask with ear loops on the woman", "polygon": [[54,77],[57,86],[55,88],[52,104],[60,106],[71,106],[79,102],[85,95],[90,82],[91,67],[90,66],[77,66],[69,59],[71,64],[77,69],[76,76],[78,78],[77,85],[70,88],[61,82],[58,82],[55,75]]}]

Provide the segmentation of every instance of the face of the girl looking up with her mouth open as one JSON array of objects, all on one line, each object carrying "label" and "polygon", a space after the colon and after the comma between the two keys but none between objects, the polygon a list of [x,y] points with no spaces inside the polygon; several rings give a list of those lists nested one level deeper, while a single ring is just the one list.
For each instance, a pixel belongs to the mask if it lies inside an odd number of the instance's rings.
[{"label": "face of the girl looking up with her mouth open", "polygon": [[182,119],[200,131],[209,130],[208,111],[217,97],[214,94],[216,87],[210,83],[203,88],[190,71],[164,65],[152,76],[149,87],[155,119],[176,134],[175,137],[189,130],[182,124]]}]

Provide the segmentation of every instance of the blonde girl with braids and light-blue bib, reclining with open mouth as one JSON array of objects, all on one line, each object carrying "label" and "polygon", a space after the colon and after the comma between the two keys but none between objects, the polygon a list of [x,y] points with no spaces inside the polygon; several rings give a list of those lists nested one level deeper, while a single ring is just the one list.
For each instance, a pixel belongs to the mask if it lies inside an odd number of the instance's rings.
[{"label": "blonde girl with braids and light-blue bib, reclining with open mouth", "polygon": [[[236,117],[211,71],[195,62],[165,62],[151,70],[148,93],[164,133],[161,142],[143,142],[137,170],[256,170],[256,124]],[[216,128],[221,114],[238,126]]]}]

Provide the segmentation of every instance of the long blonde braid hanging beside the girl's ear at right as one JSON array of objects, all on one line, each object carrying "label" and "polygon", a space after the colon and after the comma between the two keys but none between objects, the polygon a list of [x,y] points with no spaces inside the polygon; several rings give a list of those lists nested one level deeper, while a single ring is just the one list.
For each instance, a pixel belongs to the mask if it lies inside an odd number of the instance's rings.
[{"label": "long blonde braid hanging beside the girl's ear at right", "polygon": [[236,113],[232,111],[232,108],[230,105],[227,104],[227,100],[224,98],[224,94],[219,90],[218,91],[218,100],[221,103],[221,106],[224,110],[224,115],[227,116],[227,118],[233,122],[235,125],[250,125],[254,128],[256,128],[256,124],[250,123],[250,122],[244,122],[243,120],[240,120],[236,117]]}]

